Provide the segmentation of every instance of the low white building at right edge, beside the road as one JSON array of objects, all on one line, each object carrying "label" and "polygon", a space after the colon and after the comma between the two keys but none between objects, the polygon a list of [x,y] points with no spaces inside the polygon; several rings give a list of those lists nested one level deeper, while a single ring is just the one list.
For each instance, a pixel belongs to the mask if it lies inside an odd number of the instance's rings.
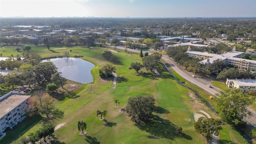
[{"label": "low white building at right edge, beside the road", "polygon": [[249,92],[250,90],[256,91],[256,80],[238,80],[227,78],[226,86],[229,88],[242,90],[242,92]]}]

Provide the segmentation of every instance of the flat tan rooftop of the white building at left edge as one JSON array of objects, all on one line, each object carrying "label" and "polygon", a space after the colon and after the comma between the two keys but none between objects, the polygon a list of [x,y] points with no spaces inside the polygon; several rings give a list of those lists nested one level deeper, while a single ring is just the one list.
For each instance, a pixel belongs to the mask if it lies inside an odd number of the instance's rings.
[{"label": "flat tan rooftop of the white building at left edge", "polygon": [[0,102],[0,118],[29,98],[27,95],[12,94]]}]

